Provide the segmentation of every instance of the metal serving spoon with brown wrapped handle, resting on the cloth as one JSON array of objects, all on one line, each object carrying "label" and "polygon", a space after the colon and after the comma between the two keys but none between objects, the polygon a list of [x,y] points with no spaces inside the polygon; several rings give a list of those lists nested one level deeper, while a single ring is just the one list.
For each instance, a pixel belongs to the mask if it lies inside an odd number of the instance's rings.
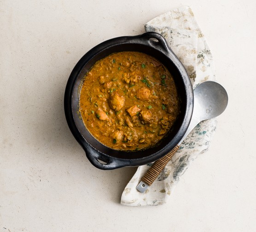
[{"label": "metal serving spoon with brown wrapped handle, resting on the cloth", "polygon": [[172,158],[172,156],[179,149],[180,144],[191,132],[191,130],[201,121],[206,119],[212,119],[219,116],[227,107],[228,96],[226,90],[217,82],[205,81],[198,85],[194,90],[194,108],[192,113],[192,119],[188,126],[188,129],[177,144],[177,146],[166,154],[164,157],[158,159],[151,168],[146,172],[140,181],[140,184],[136,189],[140,192],[151,186],[160,172],[164,169],[166,164]]}]

